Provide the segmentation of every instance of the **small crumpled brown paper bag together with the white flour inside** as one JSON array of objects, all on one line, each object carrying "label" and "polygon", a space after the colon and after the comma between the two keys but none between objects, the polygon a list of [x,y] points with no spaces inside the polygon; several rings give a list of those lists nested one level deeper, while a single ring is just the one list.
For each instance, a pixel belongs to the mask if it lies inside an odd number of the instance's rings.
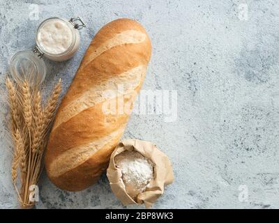
[{"label": "small crumpled brown paper bag together with the white flour inside", "polygon": [[114,195],[123,203],[150,208],[174,181],[167,155],[150,141],[124,139],[114,149],[107,168]]}]

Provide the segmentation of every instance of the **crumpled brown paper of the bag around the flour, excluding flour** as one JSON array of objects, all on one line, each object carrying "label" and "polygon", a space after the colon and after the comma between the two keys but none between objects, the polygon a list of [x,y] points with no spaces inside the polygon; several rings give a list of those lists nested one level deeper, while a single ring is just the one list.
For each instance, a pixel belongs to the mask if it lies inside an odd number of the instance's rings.
[{"label": "crumpled brown paper of the bag around the flour, excluding flour", "polygon": [[[114,157],[123,151],[137,151],[144,157],[149,158],[154,164],[154,178],[150,181],[144,192],[141,192],[137,197],[132,199],[125,189],[123,180],[121,179],[121,169],[116,168]],[[124,206],[128,204],[144,203],[145,208],[149,208],[164,192],[164,186],[169,185],[174,180],[172,171],[172,164],[167,155],[161,152],[156,145],[149,141],[142,141],[137,139],[126,139],[121,141],[116,146],[114,152],[110,157],[110,166],[107,169],[107,178],[110,180],[110,187],[114,195],[123,203]]]}]

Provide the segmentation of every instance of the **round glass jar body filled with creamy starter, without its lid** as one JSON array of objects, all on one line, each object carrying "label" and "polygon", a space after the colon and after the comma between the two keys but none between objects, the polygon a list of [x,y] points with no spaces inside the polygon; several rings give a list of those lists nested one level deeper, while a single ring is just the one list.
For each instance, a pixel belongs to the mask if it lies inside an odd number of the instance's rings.
[{"label": "round glass jar body filled with creamy starter, without its lid", "polygon": [[36,50],[52,61],[66,61],[77,52],[80,45],[78,30],[82,27],[85,27],[85,24],[80,17],[71,18],[69,21],[50,17],[38,26]]}]

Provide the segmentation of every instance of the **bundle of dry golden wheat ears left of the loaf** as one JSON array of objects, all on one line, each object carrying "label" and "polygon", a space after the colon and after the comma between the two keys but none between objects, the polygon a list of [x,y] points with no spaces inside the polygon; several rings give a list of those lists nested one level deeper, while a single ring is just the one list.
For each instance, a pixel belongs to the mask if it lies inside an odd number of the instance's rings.
[{"label": "bundle of dry golden wheat ears left of the loaf", "polygon": [[11,177],[20,205],[31,208],[35,201],[30,199],[30,186],[38,184],[43,169],[43,152],[61,93],[61,79],[45,103],[39,86],[27,80],[13,82],[7,78],[6,88],[14,144]]}]

